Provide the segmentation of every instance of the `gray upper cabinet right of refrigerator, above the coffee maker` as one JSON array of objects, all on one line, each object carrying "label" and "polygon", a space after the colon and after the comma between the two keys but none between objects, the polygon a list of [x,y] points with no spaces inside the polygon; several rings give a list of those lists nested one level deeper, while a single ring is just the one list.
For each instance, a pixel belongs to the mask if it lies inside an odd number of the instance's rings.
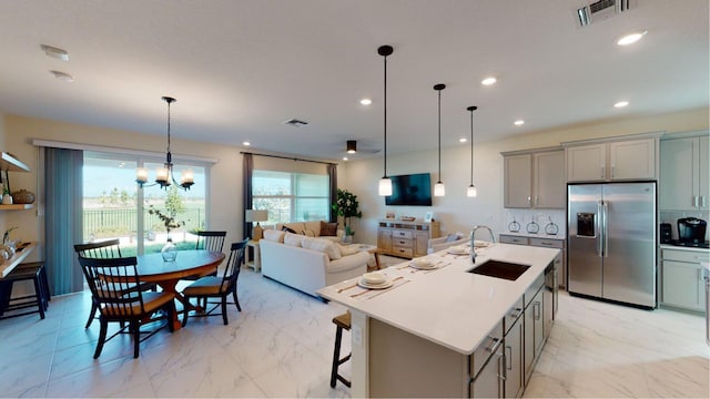
[{"label": "gray upper cabinet right of refrigerator, above the coffee maker", "polygon": [[708,135],[663,140],[659,201],[663,211],[708,211]]}]

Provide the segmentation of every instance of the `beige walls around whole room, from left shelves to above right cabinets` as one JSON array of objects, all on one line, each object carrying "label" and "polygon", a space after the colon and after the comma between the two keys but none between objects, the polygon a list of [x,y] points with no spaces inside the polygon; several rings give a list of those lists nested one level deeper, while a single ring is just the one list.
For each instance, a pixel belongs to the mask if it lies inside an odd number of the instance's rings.
[{"label": "beige walls around whole room, from left shelves to above right cabinets", "polygon": [[[503,221],[503,157],[500,152],[558,145],[560,142],[596,139],[645,132],[684,132],[708,129],[708,110],[694,110],[667,115],[651,115],[595,124],[577,125],[546,132],[537,132],[513,139],[475,144],[474,183],[478,197],[467,198],[470,158],[469,146],[463,144],[442,150],[442,175],[447,195],[434,198],[432,207],[398,206],[387,209],[384,198],[377,195],[377,182],[382,177],[382,158],[341,163],[338,186],[347,188],[361,201],[362,219],[354,219],[361,243],[377,242],[377,219],[387,211],[397,215],[424,217],[428,211],[442,222],[443,234],[456,231],[468,232],[475,224],[486,224],[496,233],[501,232]],[[38,192],[39,150],[31,144],[32,139],[65,141],[94,145],[115,146],[130,150],[160,152],[164,146],[161,135],[72,123],[38,120],[17,115],[0,114],[0,144],[3,151],[16,154],[27,163],[31,173],[11,173],[13,190],[27,188]],[[242,149],[195,141],[173,140],[173,153],[216,158],[211,170],[211,190],[207,198],[210,228],[226,229],[227,242],[242,237]],[[437,178],[437,152],[432,151],[390,155],[387,158],[388,174],[430,172]],[[23,241],[38,241],[41,236],[41,217],[38,209],[0,212],[0,233],[8,227],[19,226],[13,235]]]}]

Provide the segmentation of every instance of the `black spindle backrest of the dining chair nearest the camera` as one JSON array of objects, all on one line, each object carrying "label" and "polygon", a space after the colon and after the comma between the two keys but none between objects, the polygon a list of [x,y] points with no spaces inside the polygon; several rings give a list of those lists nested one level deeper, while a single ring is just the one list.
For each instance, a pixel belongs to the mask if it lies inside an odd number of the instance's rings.
[{"label": "black spindle backrest of the dining chair nearest the camera", "polygon": [[101,305],[101,314],[109,319],[129,318],[145,314],[135,256],[121,258],[79,257],[92,296]]}]

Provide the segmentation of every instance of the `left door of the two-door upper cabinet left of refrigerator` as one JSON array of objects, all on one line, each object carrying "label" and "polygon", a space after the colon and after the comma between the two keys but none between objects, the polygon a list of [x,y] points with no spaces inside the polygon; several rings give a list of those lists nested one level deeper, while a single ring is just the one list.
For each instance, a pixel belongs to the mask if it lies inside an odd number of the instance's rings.
[{"label": "left door of the two-door upper cabinet left of refrigerator", "polygon": [[504,157],[505,207],[531,207],[532,155],[508,155]]}]

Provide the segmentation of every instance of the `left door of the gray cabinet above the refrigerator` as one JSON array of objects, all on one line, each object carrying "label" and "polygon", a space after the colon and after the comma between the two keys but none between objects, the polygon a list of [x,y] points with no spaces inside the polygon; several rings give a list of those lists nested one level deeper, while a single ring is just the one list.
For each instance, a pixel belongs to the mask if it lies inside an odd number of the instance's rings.
[{"label": "left door of the gray cabinet above the refrigerator", "polygon": [[567,147],[568,182],[598,182],[606,180],[607,144]]}]

